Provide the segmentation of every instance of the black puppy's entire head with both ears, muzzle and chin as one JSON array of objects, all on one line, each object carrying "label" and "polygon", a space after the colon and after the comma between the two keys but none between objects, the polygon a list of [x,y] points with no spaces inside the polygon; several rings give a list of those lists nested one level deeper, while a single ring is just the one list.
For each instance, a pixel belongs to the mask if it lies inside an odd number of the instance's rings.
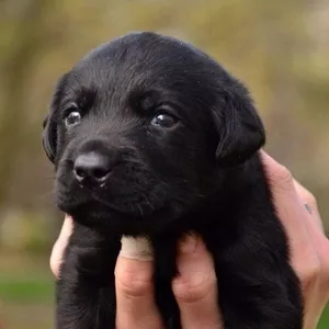
[{"label": "black puppy's entire head with both ears, muzzle and chin", "polygon": [[184,215],[263,143],[243,86],[201,50],[155,33],[82,58],[59,80],[44,125],[59,208],[124,234]]}]

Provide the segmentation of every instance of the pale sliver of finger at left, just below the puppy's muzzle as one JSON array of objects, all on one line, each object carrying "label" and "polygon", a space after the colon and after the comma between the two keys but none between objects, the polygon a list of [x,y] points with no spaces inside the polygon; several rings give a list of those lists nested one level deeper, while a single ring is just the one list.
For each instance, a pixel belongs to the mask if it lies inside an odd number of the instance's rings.
[{"label": "pale sliver of finger at left, just below the puppy's muzzle", "polygon": [[50,260],[49,260],[50,270],[56,277],[59,276],[63,256],[65,252],[65,248],[68,243],[69,237],[72,234],[72,230],[73,230],[73,220],[70,216],[66,215],[59,236],[56,242],[54,243],[52,254],[50,254]]}]

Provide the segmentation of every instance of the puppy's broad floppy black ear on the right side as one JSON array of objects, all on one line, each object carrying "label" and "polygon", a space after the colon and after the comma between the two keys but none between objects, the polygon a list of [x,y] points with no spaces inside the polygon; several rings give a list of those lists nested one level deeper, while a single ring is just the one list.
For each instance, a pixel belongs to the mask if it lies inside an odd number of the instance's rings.
[{"label": "puppy's broad floppy black ear on the right side", "polygon": [[225,90],[222,106],[213,111],[219,135],[216,159],[219,166],[243,163],[265,143],[265,132],[247,89],[237,83]]}]

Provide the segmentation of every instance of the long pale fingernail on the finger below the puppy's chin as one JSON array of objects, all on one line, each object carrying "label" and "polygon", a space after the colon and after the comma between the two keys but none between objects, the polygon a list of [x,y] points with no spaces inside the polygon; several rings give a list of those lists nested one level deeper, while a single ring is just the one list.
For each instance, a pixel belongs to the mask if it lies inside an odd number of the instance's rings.
[{"label": "long pale fingernail on the finger below the puppy's chin", "polygon": [[120,256],[140,261],[154,259],[152,248],[146,238],[122,237]]}]

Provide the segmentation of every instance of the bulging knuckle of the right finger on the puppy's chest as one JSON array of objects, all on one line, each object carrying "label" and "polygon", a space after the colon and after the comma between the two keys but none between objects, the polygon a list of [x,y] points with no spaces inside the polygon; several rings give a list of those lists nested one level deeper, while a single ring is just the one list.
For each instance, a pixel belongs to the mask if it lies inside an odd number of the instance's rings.
[{"label": "bulging knuckle of the right finger on the puppy's chest", "polygon": [[193,273],[188,280],[177,277],[172,284],[175,298],[181,303],[193,303],[205,298],[214,292],[216,276],[207,273]]}]

